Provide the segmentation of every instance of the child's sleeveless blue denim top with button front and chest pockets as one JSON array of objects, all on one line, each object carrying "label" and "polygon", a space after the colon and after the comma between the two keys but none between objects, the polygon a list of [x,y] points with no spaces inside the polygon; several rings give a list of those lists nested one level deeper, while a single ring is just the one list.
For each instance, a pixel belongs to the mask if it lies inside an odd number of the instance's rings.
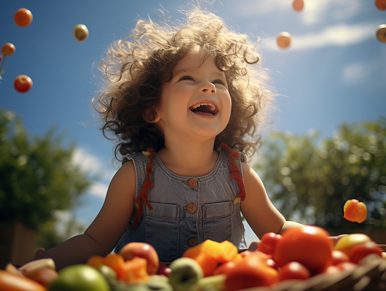
[{"label": "child's sleeveless blue denim top with button front and chest pockets", "polygon": [[[240,158],[245,160],[243,153],[240,153]],[[122,164],[128,160],[134,162],[138,195],[146,179],[149,156],[133,153],[125,156]],[[240,160],[235,160],[242,173]],[[229,179],[229,174],[228,151],[220,151],[212,172],[198,178],[173,174],[154,153],[153,187],[147,192],[153,209],[149,210],[144,203],[141,219],[134,230],[130,230],[134,222],[130,220],[115,252],[129,242],[146,242],[156,249],[161,262],[169,263],[182,257],[191,247],[187,242],[191,238],[198,243],[229,240],[239,249],[247,248],[240,202],[233,203],[240,191],[235,179]],[[186,184],[190,179],[197,181],[195,188]],[[194,213],[186,209],[188,204],[196,206]]]}]

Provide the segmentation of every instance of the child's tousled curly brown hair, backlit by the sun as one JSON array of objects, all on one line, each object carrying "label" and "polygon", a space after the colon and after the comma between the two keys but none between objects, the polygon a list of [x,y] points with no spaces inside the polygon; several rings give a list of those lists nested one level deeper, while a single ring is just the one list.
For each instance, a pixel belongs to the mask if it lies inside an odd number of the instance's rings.
[{"label": "child's tousled curly brown hair, backlit by the sun", "polygon": [[[266,124],[273,94],[267,70],[259,65],[257,45],[247,35],[231,31],[211,12],[194,8],[185,15],[179,24],[138,20],[132,34],[114,42],[100,64],[107,82],[93,105],[101,114],[103,135],[118,138],[117,159],[118,152],[126,155],[147,147],[157,151],[164,146],[159,129],[143,116],[159,105],[163,83],[171,79],[178,61],[196,46],[224,71],[232,100],[229,124],[218,134],[213,148],[225,142],[253,155],[261,145],[257,126]],[[154,118],[154,112],[151,115]]]}]

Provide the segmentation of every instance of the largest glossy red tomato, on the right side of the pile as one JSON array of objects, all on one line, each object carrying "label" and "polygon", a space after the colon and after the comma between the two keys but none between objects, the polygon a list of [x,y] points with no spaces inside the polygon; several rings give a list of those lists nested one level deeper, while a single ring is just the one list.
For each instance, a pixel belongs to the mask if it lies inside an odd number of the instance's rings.
[{"label": "largest glossy red tomato, on the right side of the pile", "polygon": [[330,263],[332,241],[327,231],[317,226],[303,226],[284,231],[276,244],[273,260],[278,267],[296,261],[312,274],[318,274]]}]

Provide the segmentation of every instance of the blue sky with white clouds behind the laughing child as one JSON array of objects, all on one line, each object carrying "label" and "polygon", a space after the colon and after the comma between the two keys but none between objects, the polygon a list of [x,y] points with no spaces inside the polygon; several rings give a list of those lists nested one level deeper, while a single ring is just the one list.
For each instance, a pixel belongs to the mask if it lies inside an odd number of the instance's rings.
[{"label": "blue sky with white clouds behind the laughing child", "polygon": [[[252,39],[261,37],[262,65],[271,71],[272,86],[279,94],[278,110],[263,141],[273,130],[308,134],[316,129],[322,136],[332,136],[344,122],[385,115],[386,43],[376,39],[375,30],[386,23],[386,10],[378,10],[374,1],[305,0],[301,12],[292,9],[292,0],[212,2],[228,26]],[[128,34],[135,19],[147,15],[159,19],[157,9],[167,10],[171,19],[180,18],[177,10],[186,3],[15,0],[2,5],[0,45],[13,43],[16,51],[4,63],[0,106],[20,115],[31,135],[56,126],[58,133],[66,133],[66,143],[77,144],[74,162],[100,175],[73,210],[80,223],[88,225],[95,218],[119,167],[119,163],[113,167],[113,143],[98,130],[90,103],[100,80],[95,65],[114,39]],[[33,14],[28,27],[13,22],[20,7]],[[79,23],[90,32],[83,43],[72,35]],[[281,31],[292,35],[289,49],[275,44]],[[34,83],[25,94],[13,88],[20,74]],[[247,231],[247,239],[253,238]]]}]

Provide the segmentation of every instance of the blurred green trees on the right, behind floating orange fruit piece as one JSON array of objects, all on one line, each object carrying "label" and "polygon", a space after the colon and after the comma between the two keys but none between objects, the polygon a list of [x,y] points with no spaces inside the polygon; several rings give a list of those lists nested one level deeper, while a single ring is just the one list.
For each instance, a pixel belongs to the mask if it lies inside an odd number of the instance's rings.
[{"label": "blurred green trees on the right, behind floating orange fruit piece", "polygon": [[[254,168],[288,219],[326,229],[386,229],[386,117],[343,124],[331,138],[273,133]],[[362,224],[343,218],[349,199],[366,204]],[[345,233],[345,232],[342,232]]]}]

